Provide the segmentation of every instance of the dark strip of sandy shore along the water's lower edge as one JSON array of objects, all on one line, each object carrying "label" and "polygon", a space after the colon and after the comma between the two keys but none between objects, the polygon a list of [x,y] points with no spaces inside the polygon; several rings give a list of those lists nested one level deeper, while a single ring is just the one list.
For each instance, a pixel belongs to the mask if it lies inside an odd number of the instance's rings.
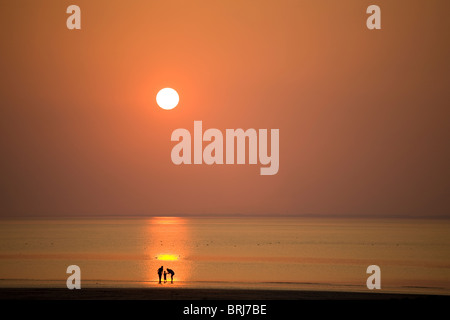
[{"label": "dark strip of sandy shore along the water's lower edge", "polygon": [[0,288],[2,300],[392,300],[433,298],[429,295],[244,289]]}]

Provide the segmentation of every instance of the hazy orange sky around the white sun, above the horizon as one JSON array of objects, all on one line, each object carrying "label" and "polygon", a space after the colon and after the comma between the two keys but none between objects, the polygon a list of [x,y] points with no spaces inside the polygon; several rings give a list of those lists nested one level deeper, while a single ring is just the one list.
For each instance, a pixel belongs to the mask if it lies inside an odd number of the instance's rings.
[{"label": "hazy orange sky around the white sun, above the horizon", "polygon": [[[66,28],[67,6],[81,30]],[[366,28],[381,7],[382,29]],[[0,2],[0,216],[450,217],[449,1]],[[160,109],[172,87],[180,104]],[[280,130],[280,169],[171,133]]]}]

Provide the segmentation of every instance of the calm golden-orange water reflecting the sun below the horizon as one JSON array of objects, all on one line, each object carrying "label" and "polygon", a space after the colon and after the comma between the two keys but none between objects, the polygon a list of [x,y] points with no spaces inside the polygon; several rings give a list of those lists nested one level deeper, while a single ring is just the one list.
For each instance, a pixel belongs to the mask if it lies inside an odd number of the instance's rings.
[{"label": "calm golden-orange water reflecting the sun below the horizon", "polygon": [[[146,218],[0,221],[0,287],[216,287],[450,294],[450,221]],[[156,270],[175,271],[158,285]]]}]

